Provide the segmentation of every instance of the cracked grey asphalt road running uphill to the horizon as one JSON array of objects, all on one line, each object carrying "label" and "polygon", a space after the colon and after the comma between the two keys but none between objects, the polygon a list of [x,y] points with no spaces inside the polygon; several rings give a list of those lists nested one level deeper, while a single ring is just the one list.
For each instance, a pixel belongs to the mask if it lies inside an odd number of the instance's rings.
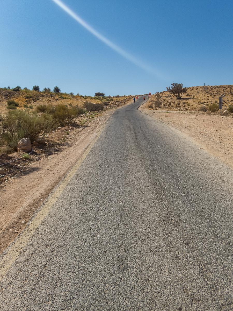
[{"label": "cracked grey asphalt road running uphill to the horizon", "polygon": [[142,101],[116,110],[4,254],[1,310],[233,309],[232,171]]}]

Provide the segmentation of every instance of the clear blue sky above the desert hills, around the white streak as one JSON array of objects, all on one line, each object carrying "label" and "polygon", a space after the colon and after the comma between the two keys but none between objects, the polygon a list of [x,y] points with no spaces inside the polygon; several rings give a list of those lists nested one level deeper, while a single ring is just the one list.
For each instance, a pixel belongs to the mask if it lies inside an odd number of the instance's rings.
[{"label": "clear blue sky above the desert hills, around the white streak", "polygon": [[232,82],[232,1],[63,3],[143,66],[96,38],[52,0],[0,1],[0,87],[135,95]]}]

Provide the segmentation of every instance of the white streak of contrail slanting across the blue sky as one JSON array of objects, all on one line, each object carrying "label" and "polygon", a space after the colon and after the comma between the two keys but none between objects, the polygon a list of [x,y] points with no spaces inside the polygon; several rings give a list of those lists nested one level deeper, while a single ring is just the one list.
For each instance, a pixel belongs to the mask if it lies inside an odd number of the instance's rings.
[{"label": "white streak of contrail slanting across the blue sky", "polygon": [[60,0],[52,0],[53,2],[55,2],[59,7],[61,7],[66,13],[68,13],[71,17],[73,17],[75,19],[75,21],[79,22],[80,25],[82,25],[83,27],[85,27],[87,30],[89,30],[94,36],[96,36],[98,39],[100,39],[101,41],[103,41],[105,44],[107,44],[110,48],[112,48],[114,51],[116,51],[117,53],[119,53],[120,55],[122,55],[123,57],[125,57],[126,59],[128,59],[130,62],[134,63],[135,65],[141,67],[142,69],[144,69],[147,72],[152,73],[153,75],[158,75],[158,72],[156,73],[155,70],[153,70],[151,67],[147,66],[146,64],[142,63],[141,61],[139,61],[137,58],[135,58],[134,56],[130,55],[129,53],[127,53],[126,51],[124,51],[123,49],[121,49],[119,46],[117,46],[116,44],[114,44],[113,42],[111,42],[110,40],[108,40],[107,38],[105,38],[104,36],[102,36],[100,33],[98,33],[96,30],[94,30],[94,28],[92,28],[91,26],[89,26],[85,21],[83,21],[77,14],[75,14],[73,11],[71,11],[71,9],[69,9],[62,1]]}]

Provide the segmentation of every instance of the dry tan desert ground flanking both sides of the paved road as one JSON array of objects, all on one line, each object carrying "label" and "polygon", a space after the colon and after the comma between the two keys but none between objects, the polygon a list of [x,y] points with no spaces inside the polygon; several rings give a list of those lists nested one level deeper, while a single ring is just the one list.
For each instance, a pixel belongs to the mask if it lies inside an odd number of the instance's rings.
[{"label": "dry tan desert ground flanking both sides of the paved road", "polygon": [[[223,89],[223,109],[227,110],[229,105],[233,104],[231,88],[232,86],[190,87],[181,100],[164,91],[152,95],[151,101],[147,100],[139,110],[180,131],[182,135],[198,144],[199,148],[233,168],[233,114],[229,111],[225,115],[220,111],[200,111],[208,110],[209,104],[218,101]],[[88,97],[54,94],[46,96],[37,92],[34,97],[26,99],[24,94],[15,95],[8,90],[1,90],[0,96],[1,114],[6,114],[9,99],[14,99],[20,104],[18,109],[24,109],[25,104],[32,105],[32,111],[38,104],[59,103],[71,106],[82,105],[83,101],[100,102]],[[103,112],[79,116],[75,123],[48,133],[46,144],[33,146],[34,151],[29,159],[21,158],[0,167],[5,170],[0,179],[1,251],[25,228],[34,212],[82,156],[115,109],[132,103],[132,98],[133,96],[113,98]],[[153,105],[153,102],[157,105]],[[203,105],[205,109],[202,109]],[[6,153],[4,148],[1,150],[0,165],[23,155],[22,151]]]}]

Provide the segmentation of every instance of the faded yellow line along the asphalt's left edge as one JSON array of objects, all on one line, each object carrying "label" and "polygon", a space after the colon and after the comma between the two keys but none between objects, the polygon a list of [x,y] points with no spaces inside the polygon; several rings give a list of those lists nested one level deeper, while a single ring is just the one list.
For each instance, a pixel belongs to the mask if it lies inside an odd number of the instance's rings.
[{"label": "faded yellow line along the asphalt's left edge", "polygon": [[70,182],[70,180],[72,179],[76,171],[79,169],[82,162],[85,160],[86,156],[88,155],[91,148],[94,146],[95,142],[97,141],[100,134],[103,132],[103,129],[105,128],[106,125],[107,123],[103,125],[100,132],[94,138],[93,142],[91,142],[91,144],[88,146],[87,150],[83,153],[78,162],[71,169],[69,174],[61,181],[61,184],[58,186],[55,192],[48,197],[47,202],[44,203],[42,209],[34,217],[30,225],[25,228],[23,233],[15,240],[14,244],[12,244],[11,248],[6,253],[6,255],[3,256],[0,266],[1,277],[3,277],[6,274],[6,272],[10,269],[13,262],[20,255],[21,251],[23,250],[23,248],[25,247],[31,236],[34,234],[35,230],[41,224],[44,217],[48,214],[53,204],[57,201],[57,199],[62,194],[63,190],[66,188],[66,185]]}]

